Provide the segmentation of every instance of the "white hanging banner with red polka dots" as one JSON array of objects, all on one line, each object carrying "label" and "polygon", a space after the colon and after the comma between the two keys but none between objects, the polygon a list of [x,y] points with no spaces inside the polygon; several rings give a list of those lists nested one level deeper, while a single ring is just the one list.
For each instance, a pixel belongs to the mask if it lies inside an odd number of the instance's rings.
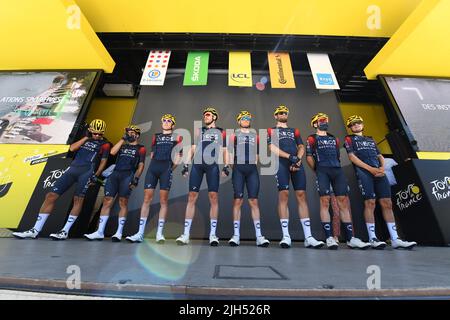
[{"label": "white hanging banner with red polka dots", "polygon": [[152,50],[148,55],[141,86],[162,86],[169,65],[170,50]]}]

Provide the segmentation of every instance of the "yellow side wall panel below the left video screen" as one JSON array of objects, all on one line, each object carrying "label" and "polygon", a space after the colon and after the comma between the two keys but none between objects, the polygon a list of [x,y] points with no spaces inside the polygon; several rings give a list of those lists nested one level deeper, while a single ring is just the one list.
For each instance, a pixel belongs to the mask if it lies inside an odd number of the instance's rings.
[{"label": "yellow side wall panel below the left video screen", "polygon": [[68,145],[0,144],[0,228],[17,228],[47,159]]}]

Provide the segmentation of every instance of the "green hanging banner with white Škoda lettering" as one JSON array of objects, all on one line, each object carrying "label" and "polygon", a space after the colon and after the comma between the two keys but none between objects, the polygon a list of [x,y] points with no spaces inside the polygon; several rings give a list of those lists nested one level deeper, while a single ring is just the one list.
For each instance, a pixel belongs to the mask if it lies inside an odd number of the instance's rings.
[{"label": "green hanging banner with white \u0160koda lettering", "polygon": [[184,73],[184,86],[206,86],[208,83],[209,52],[189,52]]}]

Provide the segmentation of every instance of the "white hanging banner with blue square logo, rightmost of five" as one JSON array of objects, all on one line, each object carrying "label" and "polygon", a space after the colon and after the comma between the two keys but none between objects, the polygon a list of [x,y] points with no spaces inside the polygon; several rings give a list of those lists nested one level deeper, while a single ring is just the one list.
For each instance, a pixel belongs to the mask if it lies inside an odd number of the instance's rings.
[{"label": "white hanging banner with blue square logo, rightmost of five", "polygon": [[317,89],[339,89],[330,58],[326,53],[307,53]]}]

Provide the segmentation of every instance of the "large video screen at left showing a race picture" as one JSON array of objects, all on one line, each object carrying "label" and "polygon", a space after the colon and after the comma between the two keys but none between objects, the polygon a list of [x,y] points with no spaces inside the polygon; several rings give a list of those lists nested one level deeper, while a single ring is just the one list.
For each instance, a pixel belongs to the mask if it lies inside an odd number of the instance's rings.
[{"label": "large video screen at left showing a race picture", "polygon": [[0,144],[67,143],[94,71],[0,72]]}]

